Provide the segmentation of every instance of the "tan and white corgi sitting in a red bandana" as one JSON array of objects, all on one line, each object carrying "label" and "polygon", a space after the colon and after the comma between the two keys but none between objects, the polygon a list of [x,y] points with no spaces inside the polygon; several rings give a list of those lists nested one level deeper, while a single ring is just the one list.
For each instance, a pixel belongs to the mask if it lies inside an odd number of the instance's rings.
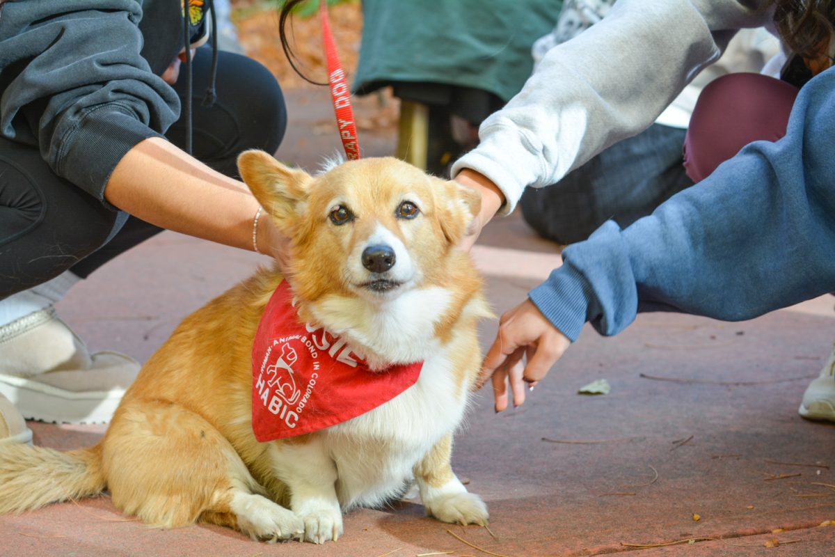
[{"label": "tan and white corgi sitting in a red bandana", "polygon": [[[276,339],[275,360],[259,367],[261,316],[287,287],[277,266],[259,269],[180,323],[97,445],[0,447],[0,513],[107,489],[118,509],[154,526],[208,522],[261,541],[323,543],[342,535],[347,510],[377,507],[413,482],[427,514],[488,524],[482,499],[450,466],[482,357],[477,324],[491,316],[473,262],[456,248],[478,195],[393,158],[332,164],[318,175],[257,150],[238,164],[291,238],[287,276],[292,307],[311,332],[300,337],[306,344]],[[328,373],[317,367],[311,380],[300,365],[325,349],[349,380],[357,362],[375,378],[423,364],[411,386],[367,412],[259,441],[254,409],[285,428],[310,417],[306,397]]]}]

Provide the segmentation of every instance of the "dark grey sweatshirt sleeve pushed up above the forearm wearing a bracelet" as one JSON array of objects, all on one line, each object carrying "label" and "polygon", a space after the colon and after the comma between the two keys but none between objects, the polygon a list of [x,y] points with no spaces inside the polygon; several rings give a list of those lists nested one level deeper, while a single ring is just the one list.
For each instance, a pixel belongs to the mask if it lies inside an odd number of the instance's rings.
[{"label": "dark grey sweatshirt sleeve pushed up above the forearm wearing a bracelet", "polygon": [[0,134],[104,200],[119,160],[175,122],[180,101],[139,54],[137,0],[27,0],[0,12]]}]

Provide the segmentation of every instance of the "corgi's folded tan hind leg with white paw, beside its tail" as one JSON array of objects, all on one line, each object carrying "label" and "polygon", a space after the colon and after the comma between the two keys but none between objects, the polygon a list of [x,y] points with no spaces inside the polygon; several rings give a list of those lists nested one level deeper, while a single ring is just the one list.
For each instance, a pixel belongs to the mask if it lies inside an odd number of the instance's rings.
[{"label": "corgi's folded tan hind leg with white paw, beside its tail", "polygon": [[296,514],[263,495],[220,432],[173,403],[119,408],[103,440],[103,465],[114,504],[148,524],[205,521],[273,541],[304,532]]}]

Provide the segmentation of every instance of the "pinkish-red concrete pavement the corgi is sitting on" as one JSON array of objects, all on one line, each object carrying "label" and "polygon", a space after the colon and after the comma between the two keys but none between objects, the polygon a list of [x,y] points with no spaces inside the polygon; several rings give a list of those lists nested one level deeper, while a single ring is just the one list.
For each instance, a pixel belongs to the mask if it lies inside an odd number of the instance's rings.
[{"label": "pinkish-red concrete pavement the corgi is sitting on", "polygon": [[[312,165],[327,152],[330,136],[298,144],[318,118],[291,122],[279,158]],[[369,154],[393,149],[391,134],[375,137]],[[493,223],[473,257],[497,314],[559,265],[558,247],[518,216]],[[145,360],[180,319],[263,261],[166,232],[79,284],[58,311],[94,349]],[[104,496],[0,517],[0,555],[487,554],[452,532],[509,557],[832,557],[835,526],[819,524],[835,520],[835,424],[807,422],[797,406],[835,340],[833,301],[739,323],[641,315],[619,337],[584,331],[520,408],[497,415],[490,393],[478,393],[453,465],[487,502],[489,531],[428,519],[409,499],[347,514],[336,543],[266,545],[215,526],[149,529]],[[495,330],[495,321],[483,323],[485,347]],[[577,393],[601,377],[610,394]],[[61,449],[95,443],[104,431],[30,425],[36,443]],[[767,549],[773,539],[781,545]]]}]

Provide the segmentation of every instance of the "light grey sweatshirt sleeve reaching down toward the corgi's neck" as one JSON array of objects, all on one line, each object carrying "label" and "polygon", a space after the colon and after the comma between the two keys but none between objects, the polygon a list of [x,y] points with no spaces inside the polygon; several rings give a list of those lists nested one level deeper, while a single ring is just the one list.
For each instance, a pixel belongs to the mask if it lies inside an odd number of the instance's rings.
[{"label": "light grey sweatshirt sleeve reaching down toward the corgi's neck", "polygon": [[771,19],[770,0],[619,0],[592,28],[552,48],[522,91],[484,120],[453,165],[477,170],[512,210],[526,186],[558,182],[646,129],[716,62],[736,30]]}]

